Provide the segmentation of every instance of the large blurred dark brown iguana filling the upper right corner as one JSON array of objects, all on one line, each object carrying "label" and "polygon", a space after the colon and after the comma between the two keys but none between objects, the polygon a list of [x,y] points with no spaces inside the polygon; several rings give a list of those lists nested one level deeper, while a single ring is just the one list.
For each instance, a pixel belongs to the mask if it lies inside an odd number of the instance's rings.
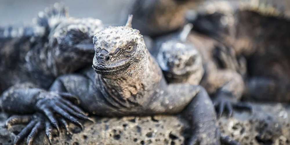
[{"label": "large blurred dark brown iguana filling the upper right corner", "polygon": [[289,102],[290,3],[256,2],[222,1],[228,9],[220,1],[205,3],[193,24],[247,59],[245,99]]}]

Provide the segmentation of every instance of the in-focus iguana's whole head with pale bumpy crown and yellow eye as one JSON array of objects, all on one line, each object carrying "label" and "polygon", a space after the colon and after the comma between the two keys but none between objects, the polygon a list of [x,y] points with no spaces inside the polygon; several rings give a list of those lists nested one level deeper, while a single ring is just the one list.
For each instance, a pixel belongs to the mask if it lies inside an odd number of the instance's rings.
[{"label": "in-focus iguana's whole head with pale bumpy crown and yellow eye", "polygon": [[94,38],[93,68],[106,79],[132,76],[142,69],[148,50],[139,30],[131,28],[133,15],[125,26],[104,28]]}]

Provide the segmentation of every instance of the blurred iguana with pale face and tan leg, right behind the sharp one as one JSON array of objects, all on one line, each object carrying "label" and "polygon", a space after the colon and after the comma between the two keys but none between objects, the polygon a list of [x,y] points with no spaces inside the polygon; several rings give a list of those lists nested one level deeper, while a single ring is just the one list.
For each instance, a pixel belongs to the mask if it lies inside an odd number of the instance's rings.
[{"label": "blurred iguana with pale face and tan leg, right behind the sharp one", "polygon": [[[216,59],[215,51],[225,49],[225,46],[209,37],[191,32],[191,28],[192,24],[187,24],[181,32],[158,37],[154,44],[151,43],[150,51],[156,57],[166,80],[169,83],[203,86],[213,97],[219,117],[224,109],[231,116],[232,106],[251,109],[251,106],[239,102],[244,91],[241,76],[246,72],[244,59],[231,62],[236,63],[238,68],[231,68],[220,62]],[[236,70],[240,70],[240,74]]]}]

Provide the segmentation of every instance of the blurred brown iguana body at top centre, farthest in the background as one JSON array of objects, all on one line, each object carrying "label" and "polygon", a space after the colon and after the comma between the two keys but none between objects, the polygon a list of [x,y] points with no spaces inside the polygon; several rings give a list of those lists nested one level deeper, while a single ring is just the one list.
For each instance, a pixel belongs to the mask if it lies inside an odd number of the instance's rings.
[{"label": "blurred brown iguana body at top centre, farthest in the background", "polygon": [[186,9],[202,0],[137,0],[131,8],[132,27],[151,37],[173,32],[185,23]]}]

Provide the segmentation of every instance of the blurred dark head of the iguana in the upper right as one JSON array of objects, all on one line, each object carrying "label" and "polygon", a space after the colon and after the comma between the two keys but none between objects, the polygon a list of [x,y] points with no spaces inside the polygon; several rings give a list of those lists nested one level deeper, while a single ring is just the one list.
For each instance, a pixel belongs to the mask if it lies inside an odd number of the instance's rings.
[{"label": "blurred dark head of the iguana in the upper right", "polygon": [[204,1],[196,10],[189,10],[186,19],[193,23],[194,30],[219,41],[225,41],[235,33],[235,12],[242,1]]}]

